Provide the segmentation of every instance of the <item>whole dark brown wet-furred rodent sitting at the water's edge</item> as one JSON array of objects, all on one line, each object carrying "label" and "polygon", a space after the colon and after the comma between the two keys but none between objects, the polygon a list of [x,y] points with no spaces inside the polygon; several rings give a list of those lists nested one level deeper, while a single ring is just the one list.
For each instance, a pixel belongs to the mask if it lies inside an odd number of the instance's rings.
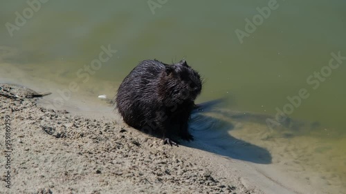
[{"label": "whole dark brown wet-furred rodent sitting at the water's edge", "polygon": [[188,119],[201,88],[198,72],[185,60],[172,65],[145,60],[122,81],[116,108],[129,126],[145,133],[192,140]]}]

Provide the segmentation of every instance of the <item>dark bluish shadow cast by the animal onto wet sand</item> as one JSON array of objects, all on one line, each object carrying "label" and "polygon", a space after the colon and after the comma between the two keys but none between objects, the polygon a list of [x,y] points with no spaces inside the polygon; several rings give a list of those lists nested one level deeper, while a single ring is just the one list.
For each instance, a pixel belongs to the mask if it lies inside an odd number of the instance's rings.
[{"label": "dark bluish shadow cast by the animal onto wet sand", "polygon": [[257,164],[271,164],[271,153],[265,148],[233,137],[228,133],[234,128],[231,122],[206,114],[212,113],[213,108],[219,102],[219,100],[208,101],[200,104],[199,108],[194,110],[191,115],[189,130],[195,140],[193,142],[183,142],[183,145],[233,159],[241,159]]}]

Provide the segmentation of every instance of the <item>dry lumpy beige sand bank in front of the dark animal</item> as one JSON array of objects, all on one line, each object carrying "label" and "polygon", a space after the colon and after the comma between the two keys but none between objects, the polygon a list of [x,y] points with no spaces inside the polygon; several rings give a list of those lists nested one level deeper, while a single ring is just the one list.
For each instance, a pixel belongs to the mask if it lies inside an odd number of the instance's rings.
[{"label": "dry lumpy beige sand bank in front of the dark animal", "polygon": [[6,90],[20,99],[0,95],[2,152],[6,115],[12,140],[10,188],[1,157],[0,193],[302,193],[247,162],[210,152],[199,139],[162,145],[126,126],[111,107],[53,110],[44,107],[49,96],[28,99],[25,88],[15,88]]}]

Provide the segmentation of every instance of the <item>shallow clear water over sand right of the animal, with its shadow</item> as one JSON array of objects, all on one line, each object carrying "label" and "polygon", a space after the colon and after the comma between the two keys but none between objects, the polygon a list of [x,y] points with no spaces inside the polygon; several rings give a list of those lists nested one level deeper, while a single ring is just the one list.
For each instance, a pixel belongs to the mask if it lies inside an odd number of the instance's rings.
[{"label": "shallow clear water over sand right of the animal, with its shadow", "polygon": [[[271,130],[266,118],[272,116],[207,103],[206,108],[194,111],[190,122],[197,146],[187,146],[251,162],[257,172],[293,190],[310,187],[302,193],[344,192],[346,155],[340,152],[345,148],[345,139],[311,133],[315,124],[297,119]],[[293,184],[287,183],[291,181]]]}]

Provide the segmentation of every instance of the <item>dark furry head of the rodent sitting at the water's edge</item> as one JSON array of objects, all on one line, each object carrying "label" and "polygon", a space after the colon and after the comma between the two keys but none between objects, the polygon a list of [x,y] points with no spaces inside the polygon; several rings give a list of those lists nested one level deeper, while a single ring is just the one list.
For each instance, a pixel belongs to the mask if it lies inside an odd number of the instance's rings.
[{"label": "dark furry head of the rodent sitting at the water's edge", "polygon": [[171,97],[194,101],[201,93],[201,77],[185,60],[165,66],[165,77],[169,80],[166,86]]}]

